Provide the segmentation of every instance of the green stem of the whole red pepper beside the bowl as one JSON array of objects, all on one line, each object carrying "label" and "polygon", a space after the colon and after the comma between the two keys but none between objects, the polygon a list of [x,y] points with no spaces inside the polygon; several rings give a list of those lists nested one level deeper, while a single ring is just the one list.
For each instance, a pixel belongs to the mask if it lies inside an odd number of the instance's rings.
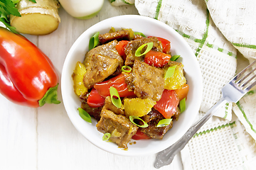
[{"label": "green stem of the whole red pepper beside the bowl", "polygon": [[54,87],[50,87],[43,98],[38,101],[39,106],[42,107],[45,103],[59,104],[60,101],[58,101],[57,89],[58,84]]}]

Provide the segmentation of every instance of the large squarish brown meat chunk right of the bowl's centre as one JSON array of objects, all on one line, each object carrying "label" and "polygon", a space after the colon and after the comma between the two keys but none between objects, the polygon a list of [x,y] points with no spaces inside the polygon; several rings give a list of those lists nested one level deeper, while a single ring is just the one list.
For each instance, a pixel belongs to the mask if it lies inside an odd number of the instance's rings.
[{"label": "large squarish brown meat chunk right of the bowl's centre", "polygon": [[126,79],[129,91],[139,98],[159,101],[164,91],[164,70],[135,60],[132,72]]}]

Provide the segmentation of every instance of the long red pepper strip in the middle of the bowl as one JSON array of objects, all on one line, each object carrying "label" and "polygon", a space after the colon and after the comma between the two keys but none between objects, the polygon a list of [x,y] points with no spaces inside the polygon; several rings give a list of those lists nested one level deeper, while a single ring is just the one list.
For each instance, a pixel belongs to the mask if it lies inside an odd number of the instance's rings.
[{"label": "long red pepper strip in the middle of the bowl", "polygon": [[133,91],[128,91],[127,84],[125,83],[124,74],[119,74],[112,79],[97,83],[94,85],[94,88],[101,96],[107,97],[110,96],[110,86],[113,86],[115,89],[117,89],[120,97],[135,96]]}]

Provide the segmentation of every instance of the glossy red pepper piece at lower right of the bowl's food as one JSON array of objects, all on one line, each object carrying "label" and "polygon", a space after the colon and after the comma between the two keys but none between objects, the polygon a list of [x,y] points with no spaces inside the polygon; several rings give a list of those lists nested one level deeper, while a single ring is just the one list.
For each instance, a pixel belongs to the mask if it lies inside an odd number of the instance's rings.
[{"label": "glossy red pepper piece at lower right of the bowl's food", "polygon": [[164,90],[161,99],[156,102],[154,108],[159,111],[164,118],[171,118],[176,113],[178,107],[178,97],[175,91]]}]

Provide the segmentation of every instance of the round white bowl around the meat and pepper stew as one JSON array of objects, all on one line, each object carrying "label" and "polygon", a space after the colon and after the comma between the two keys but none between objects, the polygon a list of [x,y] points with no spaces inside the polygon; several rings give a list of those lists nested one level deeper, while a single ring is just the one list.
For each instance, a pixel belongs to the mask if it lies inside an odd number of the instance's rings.
[{"label": "round white bowl around the meat and pepper stew", "polygon": [[[88,43],[91,36],[97,31],[100,31],[101,34],[108,33],[111,27],[116,29],[132,28],[132,30],[142,32],[146,36],[152,35],[166,38],[171,41],[171,54],[181,55],[182,57],[186,79],[190,86],[186,101],[186,111],[181,113],[178,121],[174,121],[173,128],[164,135],[163,140],[137,140],[136,144],[128,144],[128,149],[121,149],[112,142],[102,141],[103,134],[97,131],[96,120],[92,120],[92,124],[90,124],[82,120],[78,114],[80,101],[74,93],[73,79],[71,77],[75,64],[78,61],[83,62],[85,53],[88,51]],[[63,103],[75,128],[97,147],[107,152],[124,156],[154,154],[174,144],[191,127],[196,118],[201,105],[202,89],[201,70],[196,56],[193,54],[188,43],[171,27],[145,16],[116,16],[101,21],[85,30],[70,48],[65,59],[61,77]]]}]

